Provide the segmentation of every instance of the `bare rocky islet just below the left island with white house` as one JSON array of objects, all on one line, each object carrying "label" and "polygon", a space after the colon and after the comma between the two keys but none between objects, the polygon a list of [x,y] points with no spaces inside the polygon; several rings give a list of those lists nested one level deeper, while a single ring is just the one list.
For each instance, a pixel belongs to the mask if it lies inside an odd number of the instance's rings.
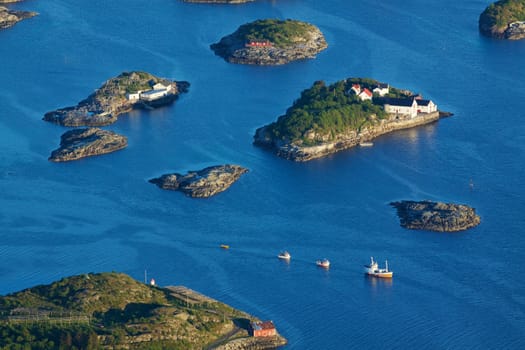
[{"label": "bare rocky islet just below the left island with white house", "polygon": [[52,162],[67,162],[80,158],[106,154],[128,145],[125,136],[98,128],[74,129],[60,138],[60,148],[49,157]]}]

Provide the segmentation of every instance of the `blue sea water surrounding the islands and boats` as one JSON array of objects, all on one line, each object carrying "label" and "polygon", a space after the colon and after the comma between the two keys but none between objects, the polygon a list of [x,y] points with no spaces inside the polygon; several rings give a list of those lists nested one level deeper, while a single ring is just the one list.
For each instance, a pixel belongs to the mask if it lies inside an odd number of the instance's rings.
[{"label": "blue sea water surrounding the islands and boats", "polygon": [[[85,272],[142,280],[147,269],[273,320],[286,349],[525,348],[525,41],[479,35],[490,2],[12,5],[40,15],[0,31],[0,294]],[[311,22],[329,47],[279,67],[209,49],[258,18]],[[43,114],[129,70],[191,87],[107,127],[128,137],[125,150],[48,162],[67,129]],[[454,116],[307,163],[252,145],[313,81],[350,76],[420,92]],[[206,200],[147,182],[223,163],[250,172]],[[482,223],[405,230],[389,206],[401,199],[466,203]],[[370,256],[388,259],[392,281],[363,276]],[[329,271],[315,266],[323,257]]]}]

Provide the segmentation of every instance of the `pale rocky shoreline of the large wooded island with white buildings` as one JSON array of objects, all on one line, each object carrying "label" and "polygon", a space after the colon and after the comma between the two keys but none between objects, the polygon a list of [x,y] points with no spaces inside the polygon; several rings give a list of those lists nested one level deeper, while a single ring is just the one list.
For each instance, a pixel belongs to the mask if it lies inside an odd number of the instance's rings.
[{"label": "pale rocky shoreline of the large wooded island with white buildings", "polygon": [[391,115],[389,119],[381,120],[375,126],[364,128],[360,131],[339,134],[335,137],[334,141],[325,142],[316,146],[300,146],[286,141],[272,139],[266,132],[266,126],[263,126],[256,130],[253,143],[256,146],[272,150],[279,157],[296,162],[304,162],[355,147],[360,143],[369,142],[378,136],[392,131],[433,123],[439,118],[449,115],[451,114],[446,112],[420,113],[412,119],[398,119],[395,115]]}]

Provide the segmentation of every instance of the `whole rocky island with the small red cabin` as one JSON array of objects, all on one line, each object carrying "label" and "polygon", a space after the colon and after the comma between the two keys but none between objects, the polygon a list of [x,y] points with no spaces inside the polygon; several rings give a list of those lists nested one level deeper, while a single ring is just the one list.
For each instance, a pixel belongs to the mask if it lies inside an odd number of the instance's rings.
[{"label": "whole rocky island with the small red cabin", "polygon": [[291,19],[264,19],[240,26],[211,49],[230,63],[280,65],[313,58],[327,48],[316,26]]}]

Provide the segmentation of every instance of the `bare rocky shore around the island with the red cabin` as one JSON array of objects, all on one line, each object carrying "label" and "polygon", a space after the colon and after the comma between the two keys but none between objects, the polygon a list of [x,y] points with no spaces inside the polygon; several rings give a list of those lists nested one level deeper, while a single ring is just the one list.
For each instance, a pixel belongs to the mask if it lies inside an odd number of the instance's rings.
[{"label": "bare rocky shore around the island with the red cabin", "polygon": [[[297,21],[298,22],[298,21]],[[210,47],[216,55],[229,63],[253,65],[282,65],[292,61],[314,58],[326,49],[328,44],[319,28],[306,24],[309,30],[304,37],[294,38],[295,42],[285,46],[274,45],[271,41],[262,41],[268,46],[250,46],[249,40],[242,34],[240,27],[233,34],[223,37]],[[245,26],[249,26],[247,24]],[[261,39],[262,40],[262,39]]]}]

